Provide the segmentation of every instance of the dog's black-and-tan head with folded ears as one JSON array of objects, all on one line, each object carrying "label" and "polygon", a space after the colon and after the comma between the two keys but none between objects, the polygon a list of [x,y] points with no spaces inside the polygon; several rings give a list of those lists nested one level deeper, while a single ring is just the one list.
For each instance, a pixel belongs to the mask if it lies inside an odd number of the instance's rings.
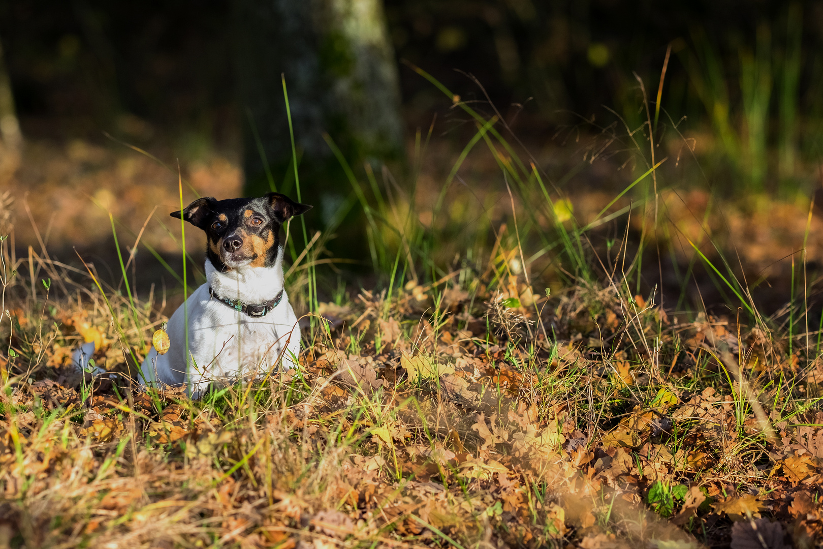
[{"label": "dog's black-and-tan head with folded ears", "polygon": [[198,198],[172,217],[206,231],[206,255],[220,271],[245,266],[271,267],[277,261],[280,227],[311,206],[294,202],[284,194],[261,198],[216,200]]}]

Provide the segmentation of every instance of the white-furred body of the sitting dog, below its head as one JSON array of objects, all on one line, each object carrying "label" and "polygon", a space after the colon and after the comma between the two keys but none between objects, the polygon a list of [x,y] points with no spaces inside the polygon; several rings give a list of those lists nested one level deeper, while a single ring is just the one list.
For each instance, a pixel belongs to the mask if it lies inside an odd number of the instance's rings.
[{"label": "white-furred body of the sitting dog, below its head", "polygon": [[[152,347],[141,367],[141,384],[185,384],[192,398],[198,398],[212,379],[265,375],[278,361],[284,370],[296,368],[300,327],[286,291],[277,307],[257,318],[212,299],[208,291],[212,286],[217,295],[244,303],[272,300],[283,289],[282,260],[282,247],[273,267],[246,265],[219,272],[207,259],[208,282],[171,315],[166,325],[169,351],[158,355]],[[188,311],[188,365],[184,306]]]}]

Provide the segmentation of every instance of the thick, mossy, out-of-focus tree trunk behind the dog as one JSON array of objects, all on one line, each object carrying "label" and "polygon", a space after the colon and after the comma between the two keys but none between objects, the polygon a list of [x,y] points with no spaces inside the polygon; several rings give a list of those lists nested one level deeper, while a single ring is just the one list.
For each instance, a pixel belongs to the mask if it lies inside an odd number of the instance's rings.
[{"label": "thick, mossy, out-of-focus tree trunk behind the dog", "polygon": [[[257,195],[273,183],[278,191],[296,195],[282,73],[300,161],[301,199],[317,207],[308,221],[325,223],[349,196],[351,184],[323,133],[356,171],[364,161],[402,159],[398,72],[383,0],[238,0],[234,16],[246,128],[245,192]],[[338,234],[346,235],[347,225]]]}]

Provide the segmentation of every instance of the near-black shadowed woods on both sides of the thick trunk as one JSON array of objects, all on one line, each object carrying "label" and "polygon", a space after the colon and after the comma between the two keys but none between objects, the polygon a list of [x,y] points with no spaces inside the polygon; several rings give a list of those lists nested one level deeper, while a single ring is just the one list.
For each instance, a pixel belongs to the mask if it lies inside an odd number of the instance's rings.
[{"label": "near-black shadowed woods on both sides of the thick trunk", "polygon": [[[653,94],[672,44],[663,105],[673,117],[710,121],[690,56],[724,66],[734,105],[739,58],[756,50],[758,32],[770,35],[775,85],[783,52],[802,40],[797,110],[810,122],[823,115],[823,2],[388,0],[384,8],[412,132],[428,126],[441,98],[403,59],[463,99],[484,99],[463,72],[477,77],[497,105],[523,105],[519,128],[539,134],[601,105],[639,123],[632,72]],[[185,137],[194,147],[197,136],[235,147],[246,119],[234,17],[231,2],[215,0],[2,2],[0,40],[24,135],[100,139],[105,129],[142,143]]]}]

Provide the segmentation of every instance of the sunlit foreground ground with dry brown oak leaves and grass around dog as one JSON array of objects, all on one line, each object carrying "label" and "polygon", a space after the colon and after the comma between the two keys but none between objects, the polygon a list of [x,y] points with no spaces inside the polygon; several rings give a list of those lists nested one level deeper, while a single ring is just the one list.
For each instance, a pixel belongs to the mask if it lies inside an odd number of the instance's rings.
[{"label": "sunlit foreground ground with dry brown oak leaves and grass around dog", "polygon": [[461,273],[320,304],[302,370],[194,402],[128,382],[151,302],[7,300],[0,547],[821,546],[816,334]]}]

